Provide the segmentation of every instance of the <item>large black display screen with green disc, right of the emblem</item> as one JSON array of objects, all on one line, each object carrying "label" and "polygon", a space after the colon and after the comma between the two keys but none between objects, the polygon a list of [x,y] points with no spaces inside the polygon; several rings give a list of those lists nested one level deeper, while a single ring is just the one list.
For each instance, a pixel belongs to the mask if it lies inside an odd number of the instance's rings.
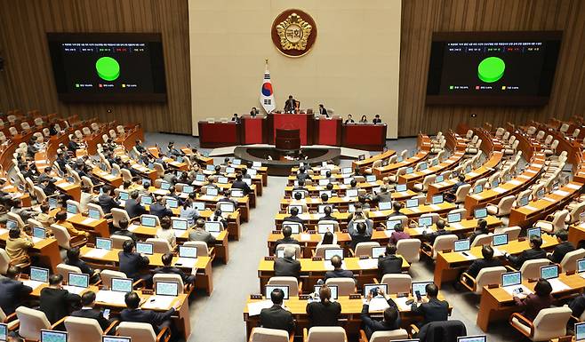
[{"label": "large black display screen with green disc, right of the emblem", "polygon": [[427,104],[545,105],[561,36],[559,31],[434,33]]}]

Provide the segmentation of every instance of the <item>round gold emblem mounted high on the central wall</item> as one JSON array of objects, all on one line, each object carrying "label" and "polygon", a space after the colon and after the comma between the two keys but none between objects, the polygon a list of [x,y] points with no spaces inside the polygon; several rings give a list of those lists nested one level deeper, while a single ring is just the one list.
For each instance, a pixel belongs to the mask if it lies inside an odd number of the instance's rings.
[{"label": "round gold emblem mounted high on the central wall", "polygon": [[309,52],[316,38],[317,25],[307,12],[286,10],[272,23],[272,42],[288,57],[301,57]]}]

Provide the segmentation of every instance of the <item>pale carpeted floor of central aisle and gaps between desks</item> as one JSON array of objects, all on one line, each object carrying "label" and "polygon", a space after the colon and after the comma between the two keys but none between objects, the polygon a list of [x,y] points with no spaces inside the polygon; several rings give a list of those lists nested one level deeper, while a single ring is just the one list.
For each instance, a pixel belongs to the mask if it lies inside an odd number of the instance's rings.
[{"label": "pale carpeted floor of central aisle and gaps between desks", "polygon": [[[172,134],[148,133],[146,144],[159,143],[165,147],[168,141],[182,146],[191,143],[198,146],[196,138]],[[390,149],[412,152],[416,147],[415,138],[391,140],[387,143]],[[209,150],[205,150],[209,152]],[[222,158],[216,158],[219,162]],[[342,165],[350,165],[350,161],[341,161]],[[267,237],[274,226],[274,216],[278,211],[278,203],[284,194],[286,179],[269,177],[268,187],[258,197],[256,208],[251,211],[251,219],[242,225],[241,239],[229,243],[228,265],[213,265],[213,292],[210,297],[197,293],[190,303],[191,328],[193,334],[188,342],[244,342],[245,325],[243,309],[246,298],[251,293],[260,293],[257,268],[260,259],[268,255]],[[422,261],[411,266],[410,274],[414,281],[430,280],[433,277],[433,265]],[[451,319],[461,320],[467,326],[468,334],[482,334],[476,326],[477,306],[479,298],[454,290],[446,284],[441,291],[453,306]],[[490,326],[488,340],[490,342],[510,341],[521,336],[509,329],[507,322]]]}]

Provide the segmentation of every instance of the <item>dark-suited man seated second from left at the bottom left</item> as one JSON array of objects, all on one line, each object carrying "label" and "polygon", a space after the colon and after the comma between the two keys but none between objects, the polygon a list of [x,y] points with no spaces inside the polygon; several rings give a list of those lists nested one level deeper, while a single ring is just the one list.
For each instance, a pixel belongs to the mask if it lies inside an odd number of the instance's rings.
[{"label": "dark-suited man seated second from left at the bottom left", "polygon": [[67,316],[70,308],[81,298],[68,290],[63,290],[63,276],[52,274],[49,277],[49,286],[41,290],[40,310],[47,316],[47,320],[53,324]]}]

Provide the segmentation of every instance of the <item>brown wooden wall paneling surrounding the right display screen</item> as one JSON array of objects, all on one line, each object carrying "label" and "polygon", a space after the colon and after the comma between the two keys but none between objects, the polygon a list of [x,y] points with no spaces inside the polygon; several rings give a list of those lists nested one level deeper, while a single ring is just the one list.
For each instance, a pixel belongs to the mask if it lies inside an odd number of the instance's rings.
[{"label": "brown wooden wall paneling surrounding the right display screen", "polygon": [[[545,107],[425,106],[434,31],[564,31],[555,83]],[[399,136],[447,131],[459,122],[494,127],[506,122],[568,119],[585,110],[585,2],[580,0],[403,0]],[[477,114],[471,118],[472,113]]]}]

